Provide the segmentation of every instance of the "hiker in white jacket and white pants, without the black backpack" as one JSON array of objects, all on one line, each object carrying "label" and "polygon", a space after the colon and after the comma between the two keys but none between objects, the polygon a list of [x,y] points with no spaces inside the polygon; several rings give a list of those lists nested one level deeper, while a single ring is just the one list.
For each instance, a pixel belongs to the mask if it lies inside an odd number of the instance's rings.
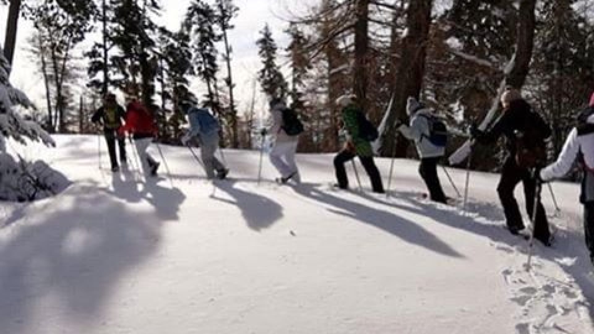
[{"label": "hiker in white jacket and white pants, without the black backpack", "polygon": [[282,99],[275,97],[270,101],[270,118],[268,130],[274,138],[274,144],[270,151],[270,162],[279,171],[280,178],[276,181],[286,183],[290,179],[301,182],[299,169],[295,163],[295,152],[299,143],[299,135],[289,136],[283,130],[283,109],[286,108]]}]

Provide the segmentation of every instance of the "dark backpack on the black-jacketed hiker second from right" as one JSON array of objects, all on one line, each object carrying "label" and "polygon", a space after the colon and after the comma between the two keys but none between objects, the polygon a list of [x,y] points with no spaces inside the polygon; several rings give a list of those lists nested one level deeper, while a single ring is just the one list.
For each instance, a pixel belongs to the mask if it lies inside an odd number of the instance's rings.
[{"label": "dark backpack on the black-jacketed hiker second from right", "polygon": [[516,133],[516,163],[523,168],[535,168],[546,163],[545,139],[550,129],[541,115],[531,111],[523,130]]}]

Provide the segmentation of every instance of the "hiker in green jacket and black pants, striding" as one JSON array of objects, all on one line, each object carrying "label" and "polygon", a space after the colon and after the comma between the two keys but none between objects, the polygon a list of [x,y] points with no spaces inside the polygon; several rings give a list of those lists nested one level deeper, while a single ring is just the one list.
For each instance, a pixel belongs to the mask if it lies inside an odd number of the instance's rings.
[{"label": "hiker in green jacket and black pants, striding", "polygon": [[373,159],[371,143],[361,137],[361,125],[358,121],[358,114],[362,112],[361,108],[356,105],[352,95],[339,97],[336,100],[336,104],[342,107],[342,121],[347,132],[345,148],[334,157],[334,170],[336,171],[336,179],[338,181],[337,186],[341,189],[349,188],[345,163],[358,156],[371,180],[371,188],[374,193],[384,193],[380,171],[378,171]]}]

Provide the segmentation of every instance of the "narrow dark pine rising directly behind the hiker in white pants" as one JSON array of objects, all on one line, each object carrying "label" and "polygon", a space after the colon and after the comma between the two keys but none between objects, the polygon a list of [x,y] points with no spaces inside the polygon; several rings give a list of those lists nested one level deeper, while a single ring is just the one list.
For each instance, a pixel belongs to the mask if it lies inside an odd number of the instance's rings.
[{"label": "narrow dark pine rising directly behind the hiker in white pants", "polygon": [[280,72],[276,64],[277,49],[276,42],[272,38],[272,33],[268,24],[260,31],[262,37],[257,40],[256,45],[260,48],[258,55],[262,59],[264,67],[258,71],[258,81],[266,96],[285,98],[287,96],[287,83],[285,76]]}]

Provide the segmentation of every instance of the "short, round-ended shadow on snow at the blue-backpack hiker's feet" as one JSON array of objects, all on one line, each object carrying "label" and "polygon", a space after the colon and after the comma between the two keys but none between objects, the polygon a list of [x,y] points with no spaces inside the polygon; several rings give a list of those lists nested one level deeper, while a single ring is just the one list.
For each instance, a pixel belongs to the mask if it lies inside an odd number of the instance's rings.
[{"label": "short, round-ended shadow on snow at the blue-backpack hiker's feet", "polygon": [[[211,198],[238,207],[245,223],[254,231],[260,232],[262,229],[269,228],[283,217],[283,208],[279,203],[252,191],[244,190],[238,187],[236,182],[230,180],[217,182],[216,187],[217,191]],[[233,200],[217,196],[219,190],[227,193]]]}]

